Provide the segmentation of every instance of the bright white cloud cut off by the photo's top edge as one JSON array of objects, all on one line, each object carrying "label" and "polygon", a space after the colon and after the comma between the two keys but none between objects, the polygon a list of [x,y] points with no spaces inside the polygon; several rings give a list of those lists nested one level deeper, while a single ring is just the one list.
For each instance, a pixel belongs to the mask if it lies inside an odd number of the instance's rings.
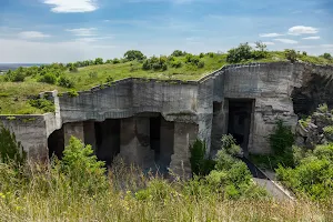
[{"label": "bright white cloud cut off by the photo's top edge", "polygon": [[98,9],[95,0],[44,0],[56,13],[90,12]]}]

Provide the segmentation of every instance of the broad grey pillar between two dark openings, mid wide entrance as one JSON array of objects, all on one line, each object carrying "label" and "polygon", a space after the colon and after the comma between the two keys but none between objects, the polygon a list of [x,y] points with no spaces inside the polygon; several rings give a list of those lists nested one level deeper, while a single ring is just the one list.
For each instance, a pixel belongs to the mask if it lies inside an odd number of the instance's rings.
[{"label": "broad grey pillar between two dark openings, mid wide entrance", "polygon": [[150,149],[150,119],[134,117],[120,123],[120,157],[128,164],[143,169],[153,167],[154,151]]}]

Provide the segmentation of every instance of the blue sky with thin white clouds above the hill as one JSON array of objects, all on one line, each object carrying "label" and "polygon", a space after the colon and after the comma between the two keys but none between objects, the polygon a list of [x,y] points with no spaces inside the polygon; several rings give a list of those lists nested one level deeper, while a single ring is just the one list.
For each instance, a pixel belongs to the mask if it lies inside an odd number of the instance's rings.
[{"label": "blue sky with thin white clouds above the hill", "polygon": [[332,0],[0,0],[0,62],[70,62],[174,49],[333,53]]}]

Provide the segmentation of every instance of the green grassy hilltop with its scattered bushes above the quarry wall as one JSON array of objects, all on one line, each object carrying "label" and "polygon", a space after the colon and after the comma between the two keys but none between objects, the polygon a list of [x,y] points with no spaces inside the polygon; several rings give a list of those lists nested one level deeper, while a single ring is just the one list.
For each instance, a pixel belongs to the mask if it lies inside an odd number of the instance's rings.
[{"label": "green grassy hilltop with its scattered bushes above the quarry wall", "polygon": [[[102,64],[93,64],[93,61],[91,61],[90,65],[79,65],[79,68],[78,63],[71,64],[72,67],[56,63],[42,68],[21,68],[14,72],[0,75],[0,114],[38,114],[47,112],[49,109],[44,109],[48,105],[43,104],[44,101],[38,101],[37,105],[36,102],[31,103],[31,99],[42,91],[89,90],[101,83],[129,77],[198,80],[230,63],[228,62],[228,53],[211,52],[201,53],[200,56],[160,57],[141,61],[108,60]],[[303,53],[297,54],[297,60],[319,64],[333,64],[332,59]],[[266,52],[262,59],[250,58],[239,63],[274,61],[286,61],[285,53],[282,51]],[[164,67],[155,65],[157,63]],[[144,64],[150,67],[143,69]]]}]

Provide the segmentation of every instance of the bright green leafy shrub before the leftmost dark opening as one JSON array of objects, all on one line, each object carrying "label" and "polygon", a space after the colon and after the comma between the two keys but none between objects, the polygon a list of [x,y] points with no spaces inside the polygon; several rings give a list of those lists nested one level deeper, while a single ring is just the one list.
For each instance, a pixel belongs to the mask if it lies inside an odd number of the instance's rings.
[{"label": "bright green leafy shrub before the leftmost dark opening", "polygon": [[64,148],[60,169],[75,189],[83,189],[88,193],[107,189],[104,162],[98,161],[91,145],[84,145],[74,137]]}]

